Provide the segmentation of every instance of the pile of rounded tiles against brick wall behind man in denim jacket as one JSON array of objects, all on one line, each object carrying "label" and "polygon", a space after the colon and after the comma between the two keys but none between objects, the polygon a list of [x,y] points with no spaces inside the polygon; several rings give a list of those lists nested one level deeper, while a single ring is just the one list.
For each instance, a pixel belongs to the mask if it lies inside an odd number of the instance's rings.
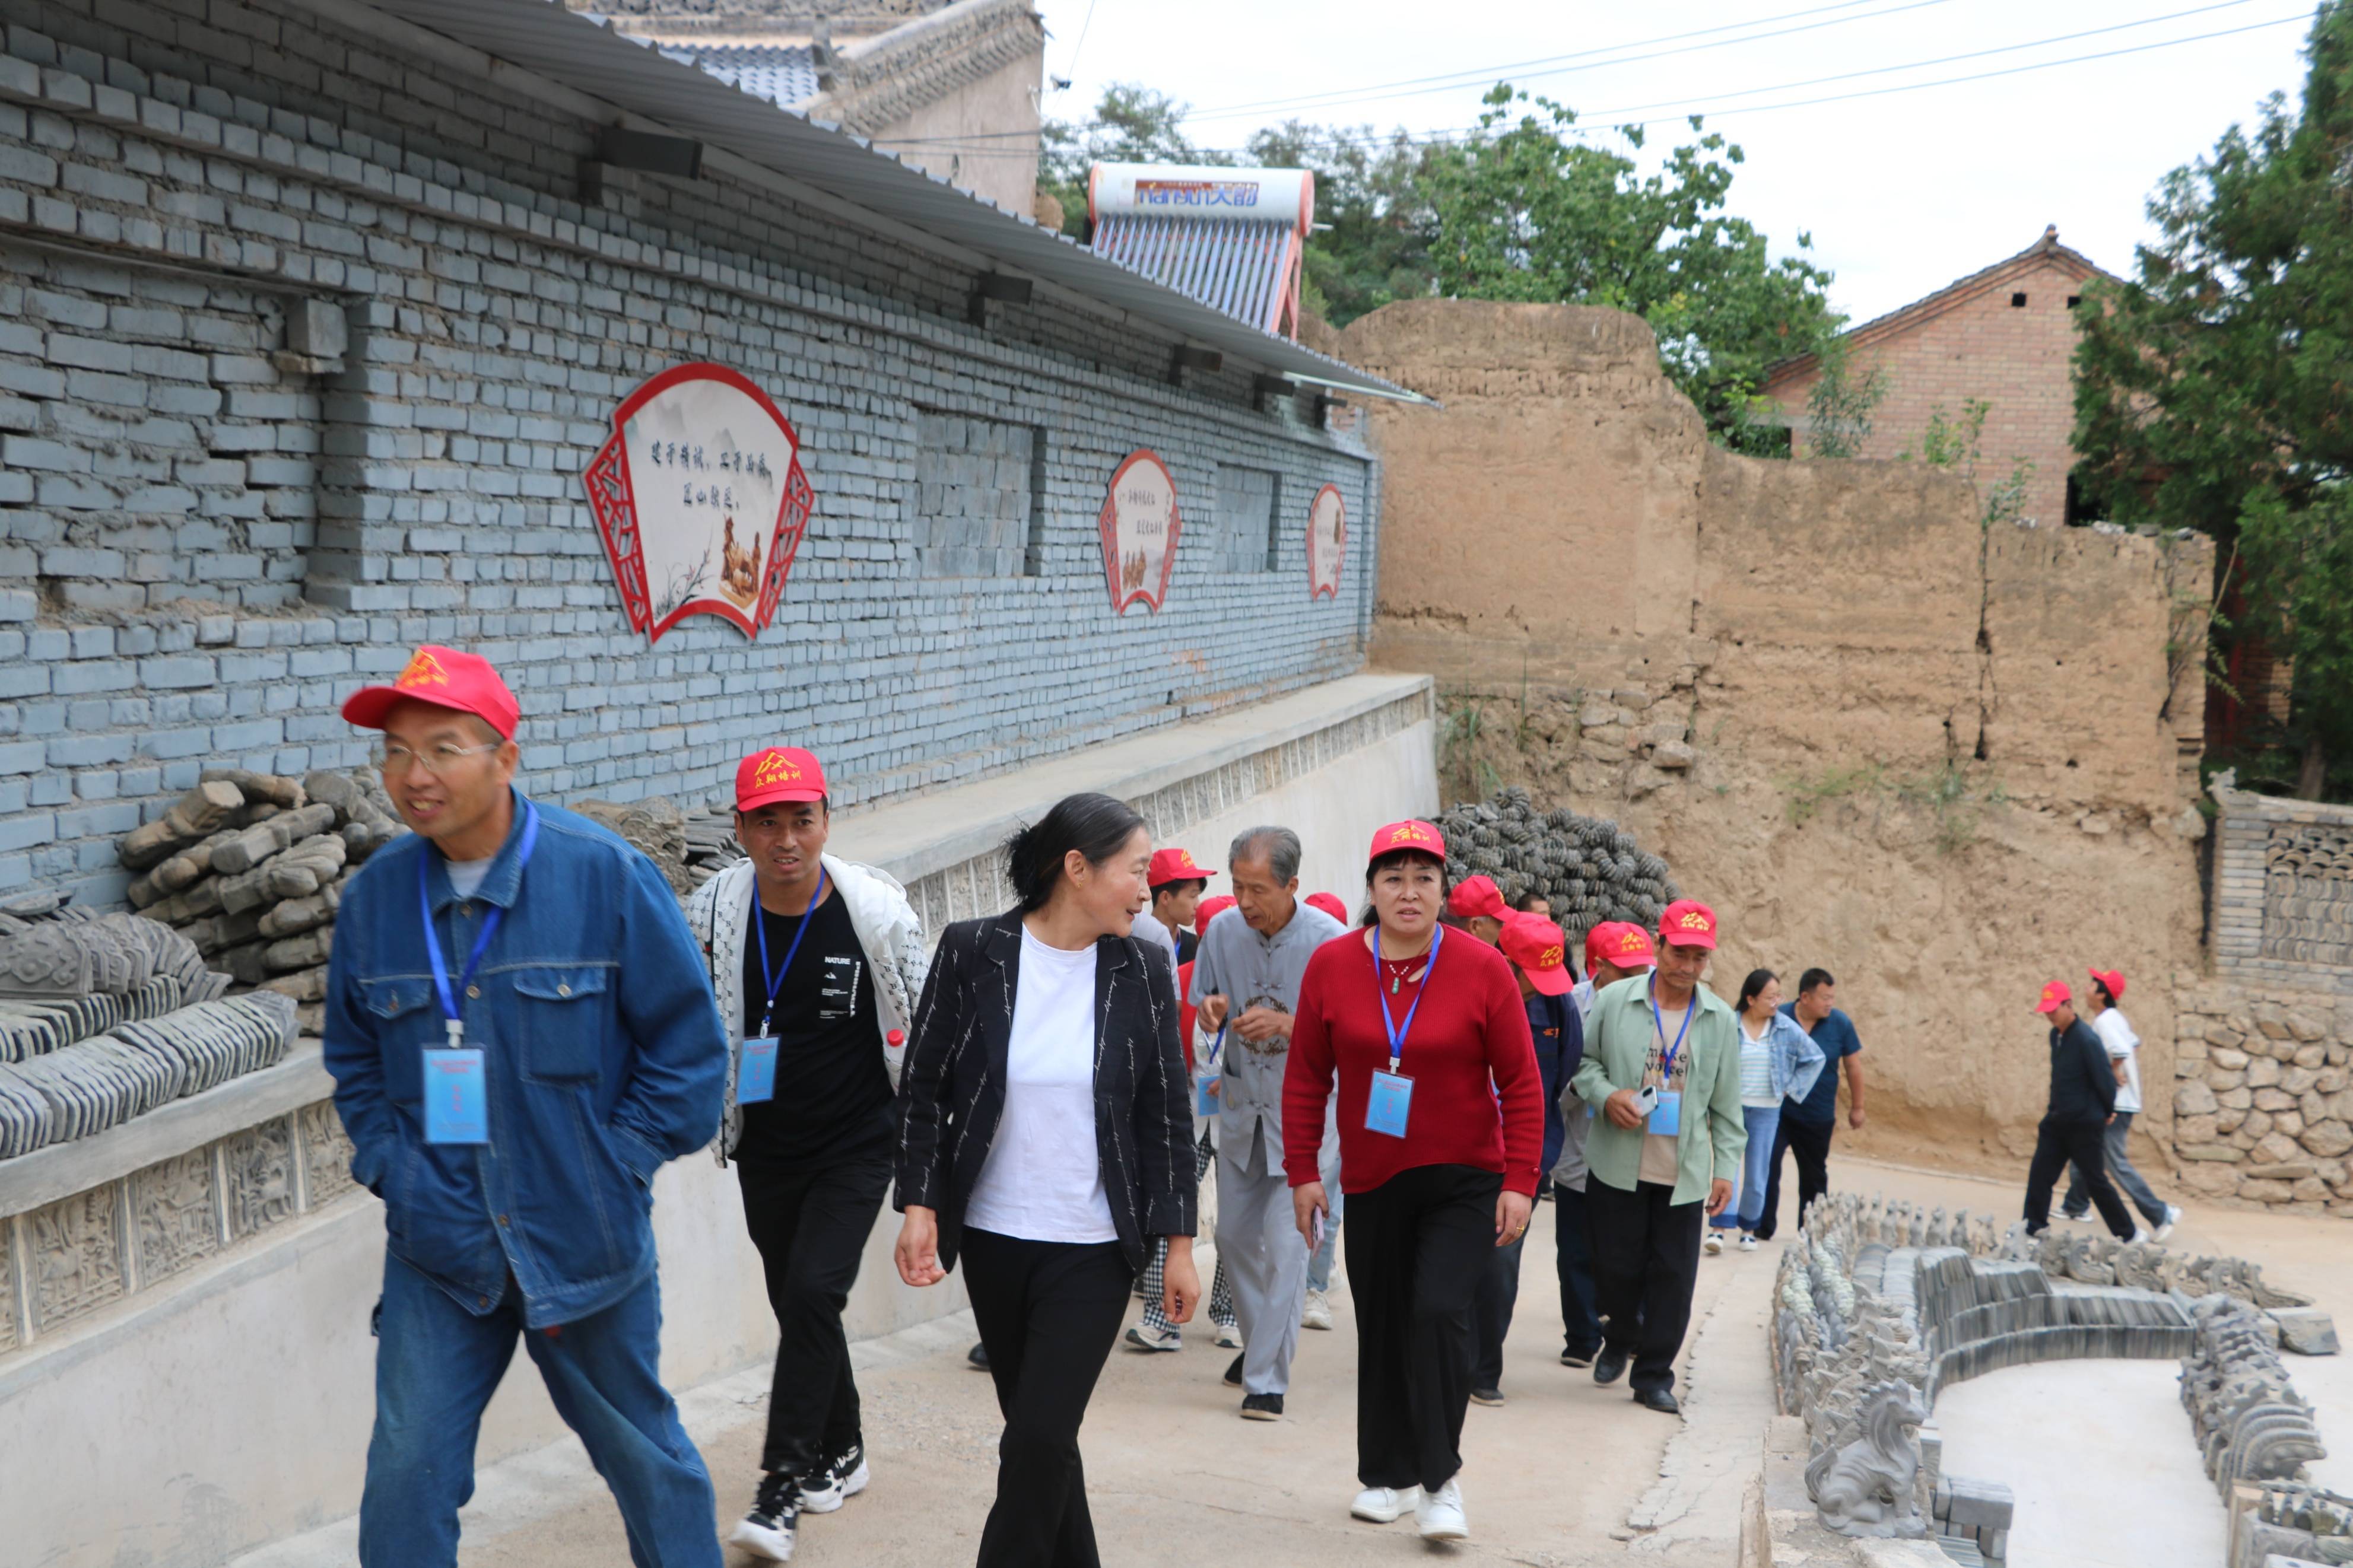
[{"label": "pile of rounded tiles against brick wall behind man in denim jacket", "polygon": [[184,933],[238,990],[304,1004],[301,1023],[315,1030],[344,886],[402,832],[365,769],[304,778],[209,769],[118,853],[139,872],[132,907]]}]

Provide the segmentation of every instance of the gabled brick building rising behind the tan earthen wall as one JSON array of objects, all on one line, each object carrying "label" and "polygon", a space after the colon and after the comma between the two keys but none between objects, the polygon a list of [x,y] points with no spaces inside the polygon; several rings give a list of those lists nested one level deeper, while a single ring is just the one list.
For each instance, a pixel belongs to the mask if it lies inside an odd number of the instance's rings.
[{"label": "gabled brick building rising behind the tan earthen wall", "polygon": [[[2045,228],[2017,256],[1847,331],[1852,371],[1878,364],[1887,376],[1887,397],[1859,456],[1918,451],[1934,409],[1958,418],[1965,400],[1984,397],[1993,404],[1984,468],[2000,477],[2014,458],[2026,458],[2035,465],[2026,515],[2066,522],[2075,468],[2073,313],[2092,277],[2108,273]],[[1788,418],[1793,456],[1807,454],[1805,400],[1819,378],[1814,355],[1784,360],[1765,376],[1765,397]]]}]

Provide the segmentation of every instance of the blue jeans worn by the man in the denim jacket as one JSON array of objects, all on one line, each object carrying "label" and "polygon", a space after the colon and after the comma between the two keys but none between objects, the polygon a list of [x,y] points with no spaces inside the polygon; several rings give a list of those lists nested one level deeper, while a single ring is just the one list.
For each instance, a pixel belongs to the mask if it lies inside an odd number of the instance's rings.
[{"label": "blue jeans worn by the man in the denim jacket", "polygon": [[678,1425],[654,1359],[654,1276],[612,1307],[560,1328],[525,1331],[513,1281],[485,1316],[384,1258],[376,1302],[376,1432],[360,1495],[362,1568],[454,1568],[456,1512],[473,1497],[482,1408],[522,1338],[555,1410],[621,1505],[638,1568],[720,1568],[715,1500],[704,1458]]}]

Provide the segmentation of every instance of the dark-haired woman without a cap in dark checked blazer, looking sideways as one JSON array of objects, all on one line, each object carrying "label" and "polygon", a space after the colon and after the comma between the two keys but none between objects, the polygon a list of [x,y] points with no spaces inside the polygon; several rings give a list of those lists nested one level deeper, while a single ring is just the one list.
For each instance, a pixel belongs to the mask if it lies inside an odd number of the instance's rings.
[{"label": "dark-haired woman without a cap in dark checked blazer, looking sideways", "polygon": [[1078,1425],[1153,1241],[1193,1272],[1193,1112],[1167,959],[1129,931],[1151,832],[1071,795],[1005,846],[1019,910],[946,929],[906,1053],[899,1276],[958,1253],[1005,1439],[981,1568],[1096,1568]]}]

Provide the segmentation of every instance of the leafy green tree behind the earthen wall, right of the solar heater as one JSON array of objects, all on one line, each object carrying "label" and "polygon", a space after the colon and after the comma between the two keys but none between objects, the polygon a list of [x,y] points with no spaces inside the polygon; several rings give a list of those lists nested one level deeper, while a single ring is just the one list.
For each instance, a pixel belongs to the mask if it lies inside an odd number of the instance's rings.
[{"label": "leafy green tree behind the earthen wall, right of the solar heater", "polygon": [[[1777,447],[1779,433],[1755,421],[1765,367],[1819,353],[1842,317],[1831,273],[1805,254],[1769,259],[1765,235],[1725,212],[1741,148],[1692,115],[1697,139],[1645,176],[1633,158],[1577,139],[1565,103],[1508,85],[1485,103],[1478,132],[1435,148],[1424,174],[1438,292],[1631,310],[1720,442]],[[1640,150],[1638,127],[1621,134]]]}]

